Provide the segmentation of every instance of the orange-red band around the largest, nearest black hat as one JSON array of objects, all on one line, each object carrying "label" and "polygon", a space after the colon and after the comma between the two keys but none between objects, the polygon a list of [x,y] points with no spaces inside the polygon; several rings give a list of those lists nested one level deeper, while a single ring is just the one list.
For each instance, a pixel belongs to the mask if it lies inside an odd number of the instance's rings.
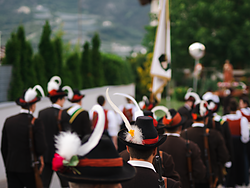
[{"label": "orange-red band around the largest, nearest black hat", "polygon": [[90,167],[121,167],[123,166],[122,158],[114,159],[80,159],[77,166]]}]

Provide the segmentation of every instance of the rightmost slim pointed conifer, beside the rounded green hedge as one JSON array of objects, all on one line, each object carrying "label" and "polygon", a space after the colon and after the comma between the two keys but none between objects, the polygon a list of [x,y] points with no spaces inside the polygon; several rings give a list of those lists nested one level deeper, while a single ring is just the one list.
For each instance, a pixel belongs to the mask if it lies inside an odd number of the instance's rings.
[{"label": "rightmost slim pointed conifer, beside the rounded green hedge", "polygon": [[98,33],[95,33],[92,38],[92,52],[91,52],[91,61],[92,61],[92,74],[94,78],[94,86],[100,87],[106,84],[103,64],[101,62],[101,53],[99,51],[101,42]]}]

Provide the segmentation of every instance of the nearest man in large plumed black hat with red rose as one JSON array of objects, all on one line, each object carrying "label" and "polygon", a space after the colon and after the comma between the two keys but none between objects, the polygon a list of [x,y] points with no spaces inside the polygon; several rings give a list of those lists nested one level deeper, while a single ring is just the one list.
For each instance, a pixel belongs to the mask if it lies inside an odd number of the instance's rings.
[{"label": "nearest man in large plumed black hat with red rose", "polygon": [[67,179],[71,188],[121,188],[135,176],[135,168],[119,156],[111,139],[103,134],[105,115],[99,105],[96,128],[82,140],[75,133],[61,132],[56,139],[53,169]]}]

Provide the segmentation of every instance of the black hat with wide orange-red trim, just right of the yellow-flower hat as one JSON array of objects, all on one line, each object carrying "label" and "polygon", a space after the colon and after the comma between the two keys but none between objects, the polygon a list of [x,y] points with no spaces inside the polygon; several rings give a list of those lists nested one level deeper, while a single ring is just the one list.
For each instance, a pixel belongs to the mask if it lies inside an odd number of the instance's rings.
[{"label": "black hat with wide orange-red trim, just right of the yellow-flower hat", "polygon": [[175,109],[169,109],[169,113],[171,117],[165,115],[158,120],[158,128],[174,129],[183,125],[186,121],[186,118],[182,117]]}]

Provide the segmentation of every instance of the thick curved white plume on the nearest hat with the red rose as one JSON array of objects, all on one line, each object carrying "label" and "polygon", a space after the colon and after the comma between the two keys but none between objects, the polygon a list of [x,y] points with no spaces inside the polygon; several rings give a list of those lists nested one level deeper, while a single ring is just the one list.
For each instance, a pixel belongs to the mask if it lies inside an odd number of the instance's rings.
[{"label": "thick curved white plume on the nearest hat with the red rose", "polygon": [[77,151],[77,154],[81,156],[88,154],[94,147],[96,147],[102,137],[104,130],[105,114],[103,108],[100,105],[94,105],[91,111],[96,111],[98,113],[98,121],[88,141],[84,143]]}]

